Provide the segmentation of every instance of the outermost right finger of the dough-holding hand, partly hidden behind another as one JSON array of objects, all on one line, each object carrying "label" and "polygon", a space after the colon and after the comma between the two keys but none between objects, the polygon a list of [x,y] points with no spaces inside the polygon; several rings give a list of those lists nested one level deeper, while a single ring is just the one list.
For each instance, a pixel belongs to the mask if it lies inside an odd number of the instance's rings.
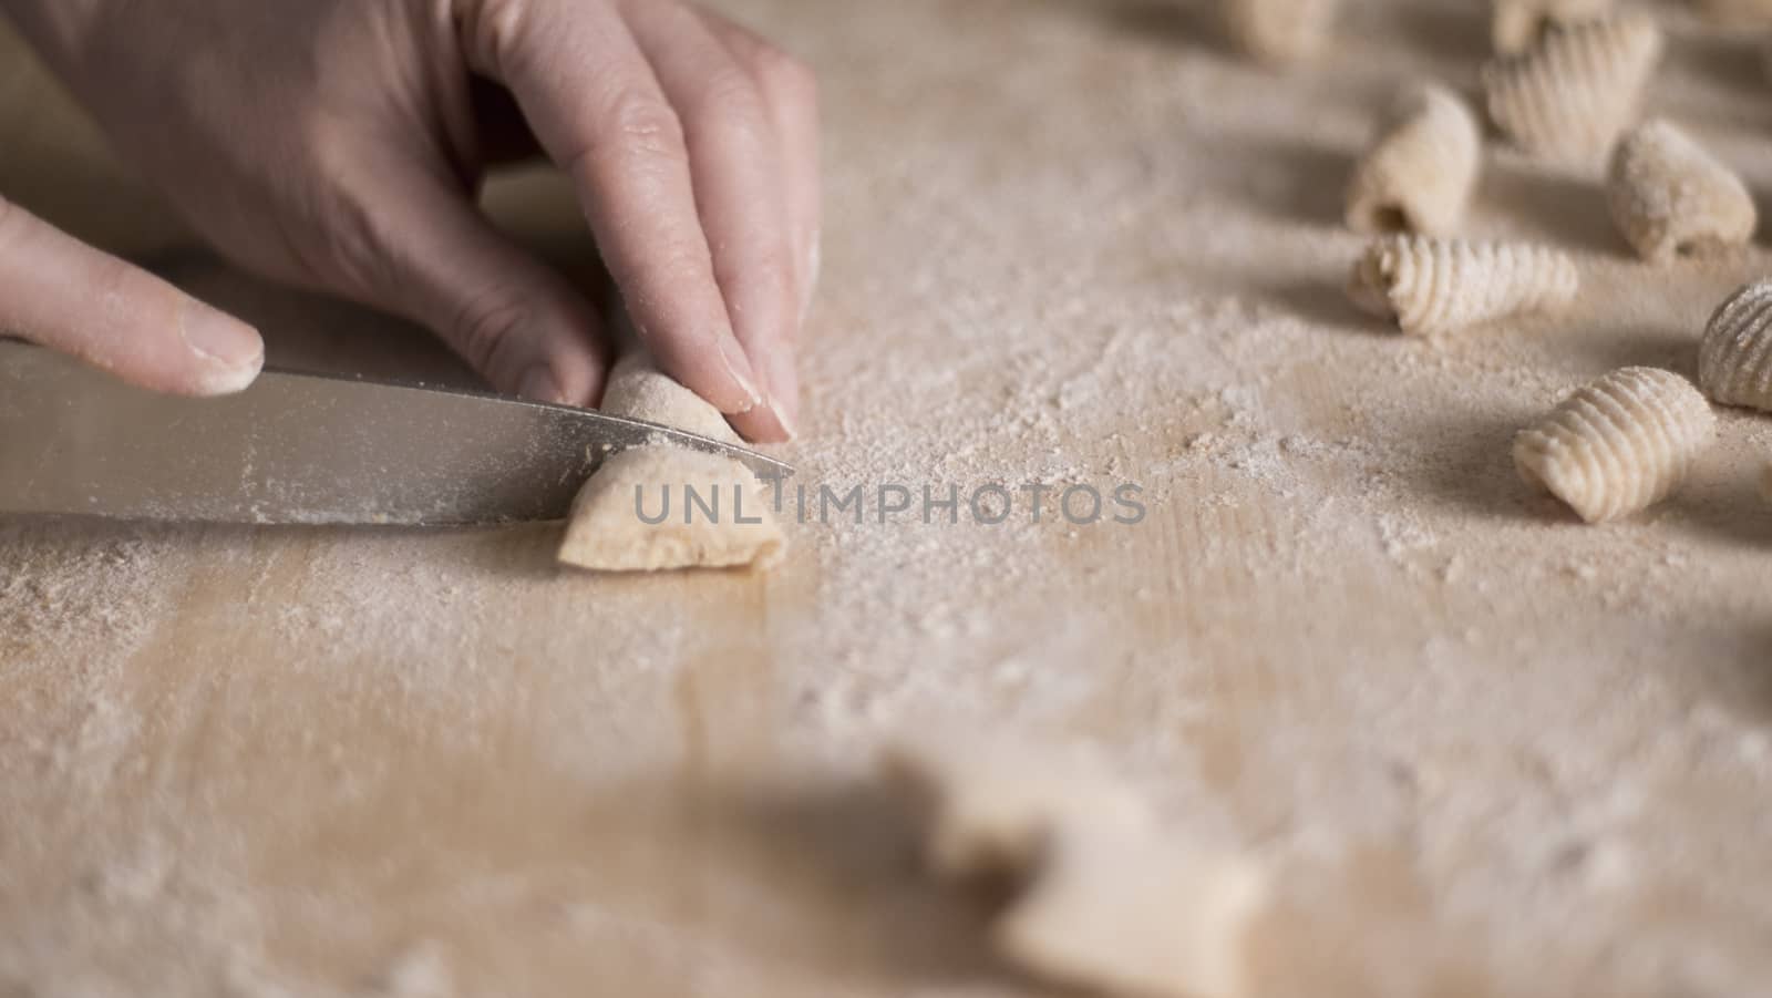
[{"label": "outermost right finger of the dough-holding hand, partly hidden behind another", "polygon": [[709,27],[741,62],[751,67],[769,105],[781,142],[781,179],[794,227],[794,261],[801,298],[801,324],[819,287],[822,183],[819,151],[819,82],[803,62],[774,48],[750,28],[718,14]]}]

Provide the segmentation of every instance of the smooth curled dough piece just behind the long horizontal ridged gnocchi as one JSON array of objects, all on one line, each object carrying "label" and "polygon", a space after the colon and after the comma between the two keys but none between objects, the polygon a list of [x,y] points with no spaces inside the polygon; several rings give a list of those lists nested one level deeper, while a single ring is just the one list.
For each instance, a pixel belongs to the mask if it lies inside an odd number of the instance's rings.
[{"label": "smooth curled dough piece just behind the long horizontal ridged gnocchi", "polygon": [[1471,200],[1481,149],[1476,115],[1457,94],[1437,83],[1416,89],[1354,168],[1348,227],[1451,234]]}]

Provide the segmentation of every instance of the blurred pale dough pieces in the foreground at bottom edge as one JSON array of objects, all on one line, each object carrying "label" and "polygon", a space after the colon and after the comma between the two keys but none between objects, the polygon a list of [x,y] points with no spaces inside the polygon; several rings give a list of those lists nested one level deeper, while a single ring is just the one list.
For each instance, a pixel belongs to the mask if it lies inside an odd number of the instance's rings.
[{"label": "blurred pale dough pieces in the foreground at bottom edge", "polygon": [[1145,998],[1239,998],[1263,867],[1164,835],[1108,771],[1006,741],[925,736],[886,768],[927,823],[930,863],[991,874],[1014,895],[992,925],[1012,964]]}]

